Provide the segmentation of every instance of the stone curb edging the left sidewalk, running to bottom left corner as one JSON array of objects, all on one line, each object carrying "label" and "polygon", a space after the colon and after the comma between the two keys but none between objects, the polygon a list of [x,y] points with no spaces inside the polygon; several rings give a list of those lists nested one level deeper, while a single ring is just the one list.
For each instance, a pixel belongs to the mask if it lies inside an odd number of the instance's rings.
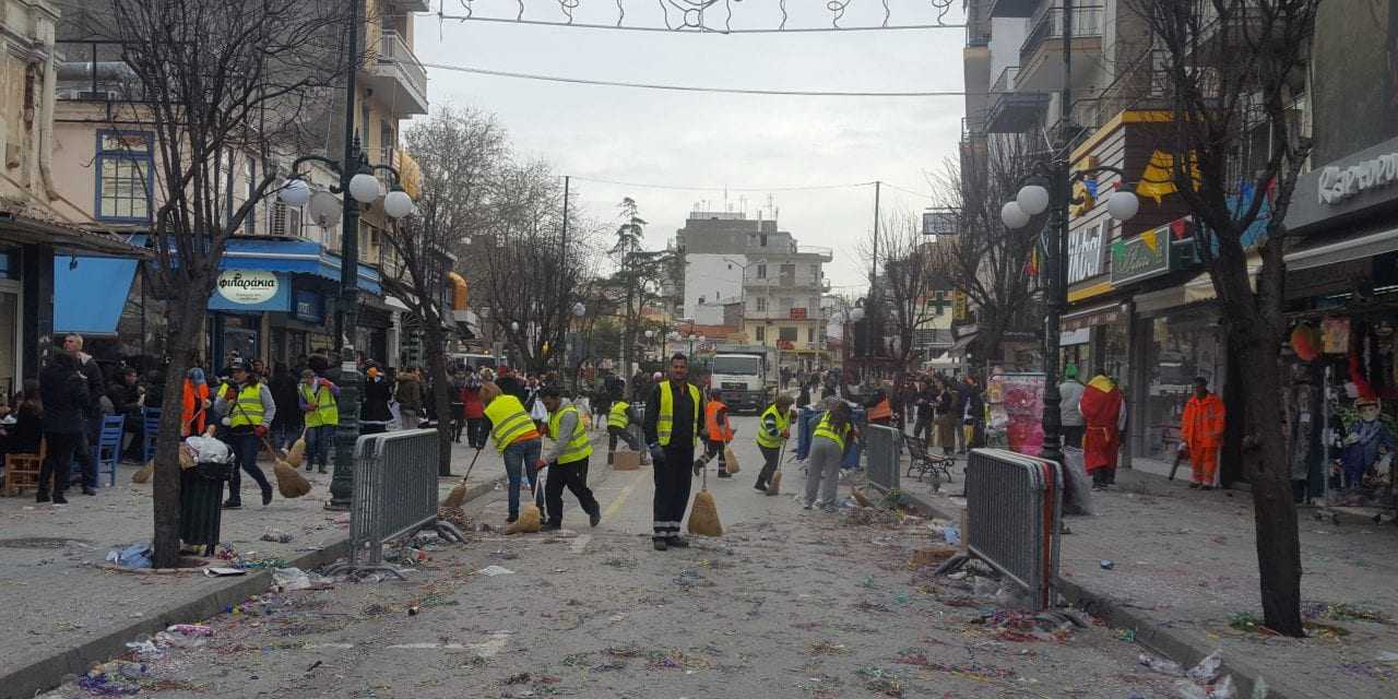
[{"label": "stone curb edging the left sidewalk, running to bottom left corner", "polygon": [[[482,482],[467,492],[466,502],[471,502],[495,489],[500,478]],[[312,570],[338,558],[350,555],[350,538],[340,538],[326,544],[317,551],[306,552],[287,561],[287,566]],[[217,590],[192,593],[185,598],[173,601],[171,605],[154,611],[131,624],[120,625],[101,632],[101,636],[89,639],[75,647],[60,650],[49,657],[35,660],[24,667],[6,670],[0,674],[3,696],[35,696],[63,684],[67,675],[82,675],[95,663],[109,660],[126,653],[126,643],[155,632],[165,630],[172,624],[187,624],[192,619],[206,619],[222,612],[254,594],[267,591],[273,584],[271,570],[259,570],[238,579]]]}]

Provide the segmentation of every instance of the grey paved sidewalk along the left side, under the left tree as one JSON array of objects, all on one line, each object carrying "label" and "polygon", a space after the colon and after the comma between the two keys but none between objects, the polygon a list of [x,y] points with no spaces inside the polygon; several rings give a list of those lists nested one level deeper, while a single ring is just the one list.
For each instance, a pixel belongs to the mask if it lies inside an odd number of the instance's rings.
[{"label": "grey paved sidewalk along the left side, under the left tree", "polygon": [[[457,446],[453,471],[464,474],[474,453]],[[92,498],[70,489],[71,505],[63,507],[36,505],[32,491],[21,498],[0,498],[0,608],[6,610],[0,675],[236,580],[204,577],[199,570],[140,575],[102,568],[109,549],[150,541],[151,485],[131,482],[137,468],[122,466],[116,487],[106,488],[103,480],[99,495]],[[263,463],[263,468],[271,478],[271,464]],[[345,538],[348,513],[324,509],[330,475],[306,475],[313,484],[309,495],[295,500],[277,495],[268,507],[261,506],[257,485],[245,475],[243,509],[224,513],[224,541],[239,555],[271,565]],[[487,447],[471,482],[503,475],[499,454]],[[443,495],[459,482],[460,477],[443,478]],[[270,530],[291,534],[292,540],[261,541]]]}]

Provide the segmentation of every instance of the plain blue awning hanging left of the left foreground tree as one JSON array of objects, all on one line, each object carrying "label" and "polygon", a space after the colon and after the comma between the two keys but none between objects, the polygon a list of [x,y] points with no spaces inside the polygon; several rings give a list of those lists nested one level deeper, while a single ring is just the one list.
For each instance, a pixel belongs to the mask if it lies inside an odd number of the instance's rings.
[{"label": "plain blue awning hanging left of the left foreground tree", "polygon": [[119,257],[55,257],[53,331],[115,336],[136,264]]}]

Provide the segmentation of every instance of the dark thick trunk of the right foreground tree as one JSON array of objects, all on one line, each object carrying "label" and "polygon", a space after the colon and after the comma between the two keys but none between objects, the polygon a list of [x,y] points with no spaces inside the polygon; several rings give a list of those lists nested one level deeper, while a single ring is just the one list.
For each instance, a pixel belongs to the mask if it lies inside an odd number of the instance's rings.
[{"label": "dark thick trunk of the right foreground tree", "polygon": [[[1255,326],[1254,326],[1255,327]],[[1239,379],[1254,400],[1248,401],[1243,468],[1253,480],[1253,517],[1257,533],[1262,618],[1268,628],[1302,637],[1302,566],[1296,505],[1292,500],[1290,464],[1281,433],[1282,372],[1278,343],[1267,331],[1239,329],[1253,361],[1241,362]],[[1257,400],[1271,397],[1271,400]]]}]

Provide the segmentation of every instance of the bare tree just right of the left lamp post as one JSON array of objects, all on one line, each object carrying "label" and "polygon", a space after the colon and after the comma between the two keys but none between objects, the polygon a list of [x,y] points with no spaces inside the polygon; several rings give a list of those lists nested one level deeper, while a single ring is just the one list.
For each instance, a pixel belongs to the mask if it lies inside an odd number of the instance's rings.
[{"label": "bare tree just right of the left lamp post", "polygon": [[487,201],[492,175],[506,157],[505,130],[495,117],[475,109],[438,108],[429,119],[405,134],[408,152],[421,168],[418,215],[389,232],[389,243],[401,263],[386,275],[418,320],[432,379],[433,411],[438,415],[438,473],[452,473],[450,377],[446,365],[446,317],[442,291],[446,273],[459,246],[488,215]]}]

